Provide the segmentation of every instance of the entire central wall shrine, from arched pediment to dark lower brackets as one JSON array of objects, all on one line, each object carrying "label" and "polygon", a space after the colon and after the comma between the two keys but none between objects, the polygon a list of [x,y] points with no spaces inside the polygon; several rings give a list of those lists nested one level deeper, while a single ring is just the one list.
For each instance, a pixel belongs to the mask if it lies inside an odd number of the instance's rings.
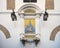
[{"label": "entire central wall shrine, from arched pediment to dark lower brackets", "polygon": [[36,37],[35,34],[35,18],[34,18],[36,17],[36,14],[39,16],[39,13],[41,13],[41,9],[35,4],[25,4],[21,8],[19,8],[18,14],[19,16],[23,16],[25,20],[24,22],[25,33],[23,34],[24,36],[22,36],[21,38],[23,45],[25,45],[25,42],[29,41],[29,39],[32,39],[32,42],[35,42],[36,45],[40,41],[40,39]]}]

